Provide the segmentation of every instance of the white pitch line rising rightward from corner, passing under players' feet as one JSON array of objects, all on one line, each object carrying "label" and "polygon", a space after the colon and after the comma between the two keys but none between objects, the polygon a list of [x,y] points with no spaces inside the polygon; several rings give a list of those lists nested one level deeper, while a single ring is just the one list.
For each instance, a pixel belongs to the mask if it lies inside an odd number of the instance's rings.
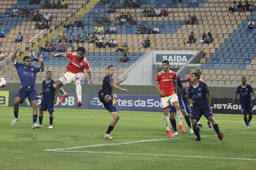
[{"label": "white pitch line rising rightward from corner, passing under players' feet", "polygon": [[[224,134],[226,135],[242,135],[242,134],[255,134],[256,132],[248,132],[248,133],[229,133]],[[201,137],[211,137],[217,135],[202,135]],[[195,136],[189,136],[189,137],[182,137],[182,138],[162,138],[162,139],[151,139],[151,140],[139,140],[139,141],[132,141],[132,142],[123,142],[123,143],[106,143],[106,144],[96,144],[96,145],[86,145],[86,146],[80,146],[80,147],[72,147],[72,148],[60,148],[60,149],[45,149],[44,151],[51,151],[51,152],[57,152],[62,150],[69,150],[69,149],[78,149],[78,148],[89,148],[89,147],[101,147],[101,146],[112,146],[112,145],[123,145],[123,144],[132,144],[132,143],[143,143],[143,142],[152,142],[152,141],[159,141],[159,140],[174,140],[174,139],[185,139],[185,138],[195,138]],[[224,138],[225,140],[225,138]]]}]

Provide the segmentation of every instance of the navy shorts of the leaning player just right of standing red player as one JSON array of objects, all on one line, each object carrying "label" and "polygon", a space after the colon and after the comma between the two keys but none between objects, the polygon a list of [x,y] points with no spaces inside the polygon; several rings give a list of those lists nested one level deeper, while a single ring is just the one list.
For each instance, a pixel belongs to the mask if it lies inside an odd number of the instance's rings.
[{"label": "navy shorts of the leaning player just right of standing red player", "polygon": [[191,113],[191,119],[197,119],[200,120],[200,117],[204,115],[207,119],[209,116],[214,116],[212,114],[211,107],[209,105],[207,106],[194,106],[193,111]]}]

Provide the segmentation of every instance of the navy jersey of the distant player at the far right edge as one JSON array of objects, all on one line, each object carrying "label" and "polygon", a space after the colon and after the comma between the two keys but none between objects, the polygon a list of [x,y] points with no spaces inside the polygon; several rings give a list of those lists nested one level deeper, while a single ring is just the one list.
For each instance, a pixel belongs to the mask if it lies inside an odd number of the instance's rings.
[{"label": "navy jersey of the distant player at the far right edge", "polygon": [[251,92],[254,93],[254,90],[249,84],[246,84],[245,87],[242,87],[242,85],[237,87],[236,94],[240,94],[241,106],[252,105]]}]

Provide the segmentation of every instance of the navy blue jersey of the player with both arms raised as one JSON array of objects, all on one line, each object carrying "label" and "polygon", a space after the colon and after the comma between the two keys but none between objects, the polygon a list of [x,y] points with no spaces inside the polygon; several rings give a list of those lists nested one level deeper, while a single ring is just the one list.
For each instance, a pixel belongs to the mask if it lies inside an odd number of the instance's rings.
[{"label": "navy blue jersey of the player with both arms raised", "polygon": [[17,69],[21,85],[34,89],[36,74],[41,68],[35,66],[26,67],[24,64],[17,62],[17,60],[13,64]]}]

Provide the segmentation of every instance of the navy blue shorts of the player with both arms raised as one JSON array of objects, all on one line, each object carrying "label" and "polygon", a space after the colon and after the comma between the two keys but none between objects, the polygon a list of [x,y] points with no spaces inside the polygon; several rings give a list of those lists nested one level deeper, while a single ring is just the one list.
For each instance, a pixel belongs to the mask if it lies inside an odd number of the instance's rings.
[{"label": "navy blue shorts of the player with both arms raised", "polygon": [[14,97],[19,97],[22,102],[28,97],[28,101],[31,103],[33,100],[39,99],[39,94],[36,89],[26,89],[22,87]]}]

